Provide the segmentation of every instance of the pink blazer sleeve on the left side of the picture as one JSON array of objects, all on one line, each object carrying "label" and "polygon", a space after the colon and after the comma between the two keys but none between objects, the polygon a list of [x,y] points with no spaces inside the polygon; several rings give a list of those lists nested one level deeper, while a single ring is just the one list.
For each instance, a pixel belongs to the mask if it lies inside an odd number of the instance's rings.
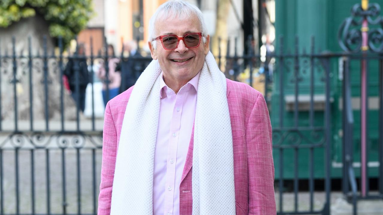
[{"label": "pink blazer sleeve on the left side of the picture", "polygon": [[117,131],[111,115],[109,102],[105,108],[101,184],[98,196],[98,215],[109,215],[112,199],[113,177],[115,174],[117,155]]}]

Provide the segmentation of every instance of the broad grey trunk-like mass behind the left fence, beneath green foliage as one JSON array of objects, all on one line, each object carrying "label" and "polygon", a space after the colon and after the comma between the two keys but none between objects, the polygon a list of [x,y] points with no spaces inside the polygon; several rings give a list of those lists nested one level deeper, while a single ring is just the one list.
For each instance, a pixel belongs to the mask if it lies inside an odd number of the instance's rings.
[{"label": "broad grey trunk-like mass behind the left fence, beneath green foliage", "polygon": [[[49,119],[61,118],[60,81],[61,74],[58,59],[52,57],[54,53],[54,39],[49,37],[48,24],[41,16],[22,19],[7,28],[0,28],[0,84],[1,84],[1,117],[2,120],[12,120],[15,117],[15,99],[13,81],[13,44],[15,37],[16,50],[16,95],[18,101],[18,119],[29,120],[29,66],[28,66],[28,37],[31,38],[32,61],[32,85],[33,85],[33,118],[43,120],[45,118],[45,86],[44,86],[44,55],[43,37],[47,36],[47,54],[50,56],[48,66],[48,106]],[[8,55],[8,57],[6,57]],[[36,57],[36,56],[40,57]],[[23,57],[20,57],[23,56]],[[65,62],[64,62],[65,66]],[[65,68],[63,66],[63,68]],[[64,91],[65,118],[75,118],[75,103],[70,97],[70,92]],[[4,125],[3,125],[4,127]]]}]

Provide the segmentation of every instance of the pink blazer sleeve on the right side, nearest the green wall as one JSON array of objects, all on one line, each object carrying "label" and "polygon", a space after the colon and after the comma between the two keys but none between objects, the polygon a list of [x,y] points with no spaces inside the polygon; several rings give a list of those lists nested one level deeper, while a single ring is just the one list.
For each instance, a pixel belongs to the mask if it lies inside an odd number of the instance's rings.
[{"label": "pink blazer sleeve on the right side, nearest the green wall", "polygon": [[275,215],[272,128],[267,105],[259,94],[246,129],[249,215]]}]

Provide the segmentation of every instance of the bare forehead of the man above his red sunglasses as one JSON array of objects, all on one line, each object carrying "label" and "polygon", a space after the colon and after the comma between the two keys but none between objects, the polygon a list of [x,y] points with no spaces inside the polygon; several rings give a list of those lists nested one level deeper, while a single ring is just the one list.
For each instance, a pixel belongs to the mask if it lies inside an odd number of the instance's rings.
[{"label": "bare forehead of the man above his red sunglasses", "polygon": [[157,35],[177,34],[183,35],[189,32],[201,32],[200,20],[196,15],[188,17],[162,16],[155,22]]}]

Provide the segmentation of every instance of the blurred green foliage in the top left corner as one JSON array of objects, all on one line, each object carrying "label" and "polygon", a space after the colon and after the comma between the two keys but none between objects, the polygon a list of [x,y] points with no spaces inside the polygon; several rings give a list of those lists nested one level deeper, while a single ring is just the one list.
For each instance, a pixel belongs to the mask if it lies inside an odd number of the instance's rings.
[{"label": "blurred green foliage in the top left corner", "polygon": [[92,17],[92,0],[1,0],[0,27],[36,13],[49,23],[52,37],[62,36],[64,44],[68,44]]}]

